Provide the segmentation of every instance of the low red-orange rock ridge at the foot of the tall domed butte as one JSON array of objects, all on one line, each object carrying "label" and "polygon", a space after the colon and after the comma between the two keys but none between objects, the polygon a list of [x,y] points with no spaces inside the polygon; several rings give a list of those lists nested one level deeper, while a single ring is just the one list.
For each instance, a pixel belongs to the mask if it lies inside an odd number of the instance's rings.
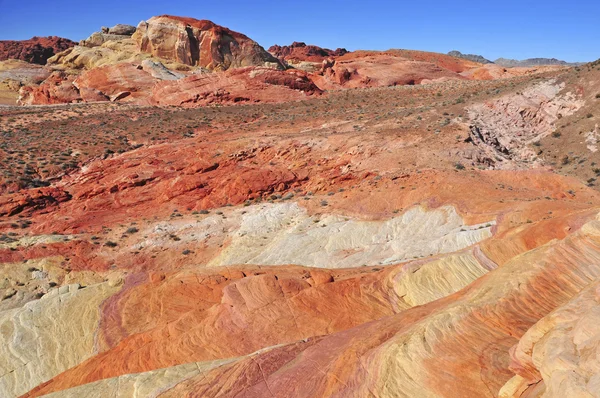
[{"label": "low red-orange rock ridge at the foot of the tall domed butte", "polygon": [[39,86],[21,89],[23,105],[120,101],[139,105],[236,104],[285,102],[320,94],[301,71],[237,68],[200,73],[179,80],[161,80],[129,63],[101,66],[73,78],[55,73]]}]

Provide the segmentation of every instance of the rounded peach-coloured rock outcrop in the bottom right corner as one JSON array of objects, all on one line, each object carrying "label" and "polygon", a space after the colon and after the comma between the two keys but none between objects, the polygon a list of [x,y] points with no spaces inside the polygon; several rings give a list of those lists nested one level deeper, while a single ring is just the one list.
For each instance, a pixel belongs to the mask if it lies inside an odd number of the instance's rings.
[{"label": "rounded peach-coloured rock outcrop in the bottom right corner", "polygon": [[517,373],[499,397],[596,397],[600,281],[542,318],[511,350]]}]

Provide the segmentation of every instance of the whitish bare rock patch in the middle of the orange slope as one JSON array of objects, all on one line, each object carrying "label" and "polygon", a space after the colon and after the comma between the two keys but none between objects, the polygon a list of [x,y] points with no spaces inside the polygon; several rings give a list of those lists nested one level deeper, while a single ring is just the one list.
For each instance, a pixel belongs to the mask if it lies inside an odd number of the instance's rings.
[{"label": "whitish bare rock patch in the middle of the orange slope", "polygon": [[211,265],[394,264],[471,246],[489,238],[491,226],[465,226],[452,207],[417,207],[387,221],[360,221],[337,215],[309,217],[296,204],[265,205],[243,215],[230,245]]}]

